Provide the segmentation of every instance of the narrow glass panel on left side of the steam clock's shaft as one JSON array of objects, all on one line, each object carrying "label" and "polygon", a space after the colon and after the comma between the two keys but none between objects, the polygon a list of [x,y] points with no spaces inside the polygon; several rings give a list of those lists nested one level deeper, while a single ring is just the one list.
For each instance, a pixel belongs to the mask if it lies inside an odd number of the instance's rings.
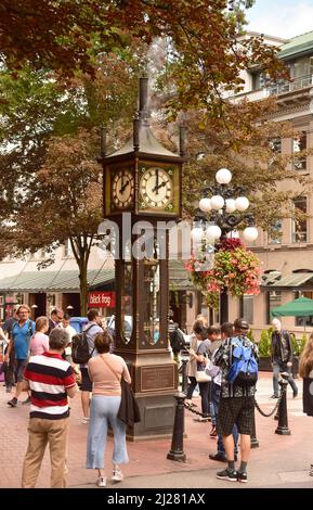
[{"label": "narrow glass panel on left side of the steam clock's shaft", "polygon": [[123,285],[121,295],[121,339],[129,343],[132,334],[132,264],[127,262],[123,265]]}]

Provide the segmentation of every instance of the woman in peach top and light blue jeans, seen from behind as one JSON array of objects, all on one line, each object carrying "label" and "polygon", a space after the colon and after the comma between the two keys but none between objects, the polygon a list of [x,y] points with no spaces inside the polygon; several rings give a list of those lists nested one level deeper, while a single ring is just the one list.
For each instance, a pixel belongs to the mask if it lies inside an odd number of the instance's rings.
[{"label": "woman in peach top and light blue jeans, seen from behind", "polygon": [[87,469],[97,470],[96,485],[106,486],[105,447],[108,424],[114,433],[113,482],[123,479],[119,464],[128,462],[126,424],[117,418],[120,406],[120,381],[131,383],[125,360],[110,353],[113,340],[108,331],[96,334],[94,346],[97,355],[88,362],[88,372],[93,382],[90,406],[90,422],[87,438]]}]

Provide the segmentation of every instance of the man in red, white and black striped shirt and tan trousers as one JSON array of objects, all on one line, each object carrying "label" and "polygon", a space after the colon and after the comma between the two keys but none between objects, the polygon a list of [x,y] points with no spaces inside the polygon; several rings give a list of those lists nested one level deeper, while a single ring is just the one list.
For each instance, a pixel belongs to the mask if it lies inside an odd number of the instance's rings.
[{"label": "man in red, white and black striped shirt and tan trousers", "polygon": [[22,487],[34,488],[45,446],[50,446],[51,488],[66,487],[69,408],[77,385],[73,368],[62,358],[69,343],[66,330],[55,328],[49,335],[49,352],[30,358],[25,388],[31,391],[28,448],[24,459]]}]

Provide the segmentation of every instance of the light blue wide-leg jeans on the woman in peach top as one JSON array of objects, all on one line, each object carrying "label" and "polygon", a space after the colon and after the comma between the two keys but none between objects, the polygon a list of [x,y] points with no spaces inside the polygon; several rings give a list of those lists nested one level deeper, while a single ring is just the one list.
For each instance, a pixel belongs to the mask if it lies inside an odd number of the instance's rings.
[{"label": "light blue wide-leg jeans on the woman in peach top", "polygon": [[87,469],[104,469],[108,423],[114,433],[113,463],[128,462],[126,424],[117,418],[119,405],[120,396],[92,396],[87,437]]}]

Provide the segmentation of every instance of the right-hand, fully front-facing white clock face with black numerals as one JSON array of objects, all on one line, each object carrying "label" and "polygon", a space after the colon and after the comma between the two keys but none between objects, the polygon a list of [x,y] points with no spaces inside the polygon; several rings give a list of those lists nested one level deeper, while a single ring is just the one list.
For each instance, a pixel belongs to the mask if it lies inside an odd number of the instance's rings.
[{"label": "right-hand, fully front-facing white clock face with black numerals", "polygon": [[151,167],[141,177],[140,191],[146,206],[164,208],[173,195],[171,176],[164,168]]}]

